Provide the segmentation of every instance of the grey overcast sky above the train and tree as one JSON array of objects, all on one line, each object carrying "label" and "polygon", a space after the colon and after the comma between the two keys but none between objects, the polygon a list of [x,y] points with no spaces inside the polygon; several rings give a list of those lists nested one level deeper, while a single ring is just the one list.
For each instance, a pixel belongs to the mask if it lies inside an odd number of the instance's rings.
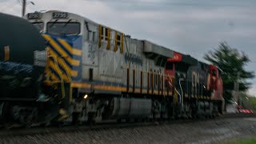
[{"label": "grey overcast sky above the train and tree", "polygon": [[[22,0],[0,0],[0,11],[21,15]],[[203,60],[226,41],[249,55],[256,70],[255,0],[32,0],[26,12],[64,10]],[[250,94],[256,95],[256,80]]]}]

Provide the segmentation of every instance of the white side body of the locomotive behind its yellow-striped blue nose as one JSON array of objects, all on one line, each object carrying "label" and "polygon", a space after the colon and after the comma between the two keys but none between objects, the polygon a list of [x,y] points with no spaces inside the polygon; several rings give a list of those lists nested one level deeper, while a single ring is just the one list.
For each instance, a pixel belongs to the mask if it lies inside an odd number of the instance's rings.
[{"label": "white side body of the locomotive behind its yellow-striped blue nose", "polygon": [[[147,94],[147,89],[150,89],[150,94],[159,94],[161,82],[163,83],[160,75],[163,75],[164,69],[163,66],[156,66],[154,58],[145,54],[144,43],[106,26],[86,23],[86,26],[92,27],[90,25],[98,27],[98,33],[95,34],[98,42],[85,42],[82,82],[92,83],[94,86],[112,86],[109,91]],[[90,79],[89,69],[93,70],[93,79]],[[100,91],[97,92],[101,93]],[[102,92],[106,93],[106,90]]]}]

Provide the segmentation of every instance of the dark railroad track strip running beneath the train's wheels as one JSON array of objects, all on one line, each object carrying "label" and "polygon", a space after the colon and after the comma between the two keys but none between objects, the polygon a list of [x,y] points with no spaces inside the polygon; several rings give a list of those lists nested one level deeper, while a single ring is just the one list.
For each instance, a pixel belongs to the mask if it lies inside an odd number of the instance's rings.
[{"label": "dark railroad track strip running beneath the train's wheels", "polygon": [[18,135],[35,135],[35,134],[53,134],[53,133],[66,133],[66,132],[79,132],[84,130],[110,130],[110,129],[120,129],[120,128],[134,128],[142,126],[161,126],[161,125],[171,125],[180,124],[188,122],[203,122],[211,120],[221,120],[224,118],[251,118],[256,117],[256,114],[223,114],[218,118],[197,118],[197,119],[178,119],[169,120],[161,122],[102,122],[97,125],[82,125],[82,126],[35,126],[31,128],[14,128],[10,130],[1,129],[0,138],[6,136],[18,136]]}]

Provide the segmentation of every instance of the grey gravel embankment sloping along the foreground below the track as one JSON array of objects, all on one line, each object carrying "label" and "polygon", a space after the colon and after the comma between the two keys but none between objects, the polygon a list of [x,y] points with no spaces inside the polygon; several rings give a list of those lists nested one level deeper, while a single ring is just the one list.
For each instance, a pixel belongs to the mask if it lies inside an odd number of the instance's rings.
[{"label": "grey gravel embankment sloping along the foreground below the track", "polygon": [[134,128],[1,136],[0,143],[219,143],[256,135],[256,118]]}]

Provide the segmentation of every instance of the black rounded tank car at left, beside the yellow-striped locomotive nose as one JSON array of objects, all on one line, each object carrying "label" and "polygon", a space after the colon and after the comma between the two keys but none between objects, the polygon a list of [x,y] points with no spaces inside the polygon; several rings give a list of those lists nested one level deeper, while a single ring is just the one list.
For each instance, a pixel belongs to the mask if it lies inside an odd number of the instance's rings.
[{"label": "black rounded tank car at left, beside the yellow-striped locomotive nose", "polygon": [[34,102],[46,66],[46,44],[26,20],[0,13],[0,117],[2,121],[36,119]]}]

